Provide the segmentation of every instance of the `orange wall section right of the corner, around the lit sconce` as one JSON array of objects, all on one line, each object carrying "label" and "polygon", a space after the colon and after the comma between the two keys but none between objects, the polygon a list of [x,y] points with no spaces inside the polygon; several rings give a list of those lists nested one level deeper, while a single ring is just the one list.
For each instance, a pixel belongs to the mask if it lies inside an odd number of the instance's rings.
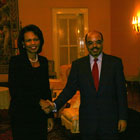
[{"label": "orange wall section right of the corner, around the lit sconce", "polygon": [[122,58],[125,76],[131,80],[140,80],[140,34],[131,24],[138,5],[140,0],[111,1],[111,52]]}]

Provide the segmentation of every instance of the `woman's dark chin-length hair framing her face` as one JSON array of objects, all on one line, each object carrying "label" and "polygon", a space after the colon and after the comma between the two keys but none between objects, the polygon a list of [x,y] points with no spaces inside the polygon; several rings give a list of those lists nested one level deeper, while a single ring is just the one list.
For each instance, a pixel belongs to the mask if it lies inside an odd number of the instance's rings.
[{"label": "woman's dark chin-length hair framing her face", "polygon": [[40,47],[39,47],[37,53],[40,53],[42,51],[42,46],[44,44],[44,37],[43,37],[42,31],[36,25],[30,24],[30,25],[23,27],[19,32],[18,48],[19,48],[20,54],[26,54],[26,48],[23,47],[24,34],[26,32],[30,32],[30,31],[33,32],[36,36],[38,36],[38,38],[40,40]]}]

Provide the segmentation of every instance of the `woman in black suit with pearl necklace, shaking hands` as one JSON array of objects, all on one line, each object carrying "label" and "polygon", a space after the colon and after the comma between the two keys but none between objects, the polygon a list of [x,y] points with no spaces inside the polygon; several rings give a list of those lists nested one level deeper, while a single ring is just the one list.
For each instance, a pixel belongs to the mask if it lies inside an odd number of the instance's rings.
[{"label": "woman in black suit with pearl necklace, shaking hands", "polygon": [[[48,60],[40,56],[44,44],[36,25],[21,29],[18,37],[20,54],[11,57],[9,64],[9,113],[13,140],[47,140],[53,127],[53,114],[45,114],[40,102],[51,100]],[[48,127],[49,126],[49,127]]]}]

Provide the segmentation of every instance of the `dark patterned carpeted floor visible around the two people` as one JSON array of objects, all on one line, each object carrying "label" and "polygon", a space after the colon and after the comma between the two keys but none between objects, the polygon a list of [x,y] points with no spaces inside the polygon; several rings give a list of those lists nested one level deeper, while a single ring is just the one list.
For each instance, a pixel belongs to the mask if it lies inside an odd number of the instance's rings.
[{"label": "dark patterned carpeted floor visible around the two people", "polygon": [[[0,140],[12,140],[9,119],[6,113],[2,114],[3,116],[0,113]],[[48,133],[48,140],[80,140],[79,134],[66,130],[60,119],[55,119],[54,123],[53,130]],[[119,140],[140,140],[140,112],[128,109],[127,130],[120,134]]]}]

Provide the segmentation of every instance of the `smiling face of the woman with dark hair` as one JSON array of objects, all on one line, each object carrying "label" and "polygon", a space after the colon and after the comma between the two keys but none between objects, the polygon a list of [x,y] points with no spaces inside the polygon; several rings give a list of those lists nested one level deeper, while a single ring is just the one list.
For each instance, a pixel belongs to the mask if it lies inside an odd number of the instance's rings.
[{"label": "smiling face of the woman with dark hair", "polygon": [[27,53],[37,53],[40,47],[40,40],[37,35],[35,35],[32,31],[26,32],[24,34],[24,42]]}]

